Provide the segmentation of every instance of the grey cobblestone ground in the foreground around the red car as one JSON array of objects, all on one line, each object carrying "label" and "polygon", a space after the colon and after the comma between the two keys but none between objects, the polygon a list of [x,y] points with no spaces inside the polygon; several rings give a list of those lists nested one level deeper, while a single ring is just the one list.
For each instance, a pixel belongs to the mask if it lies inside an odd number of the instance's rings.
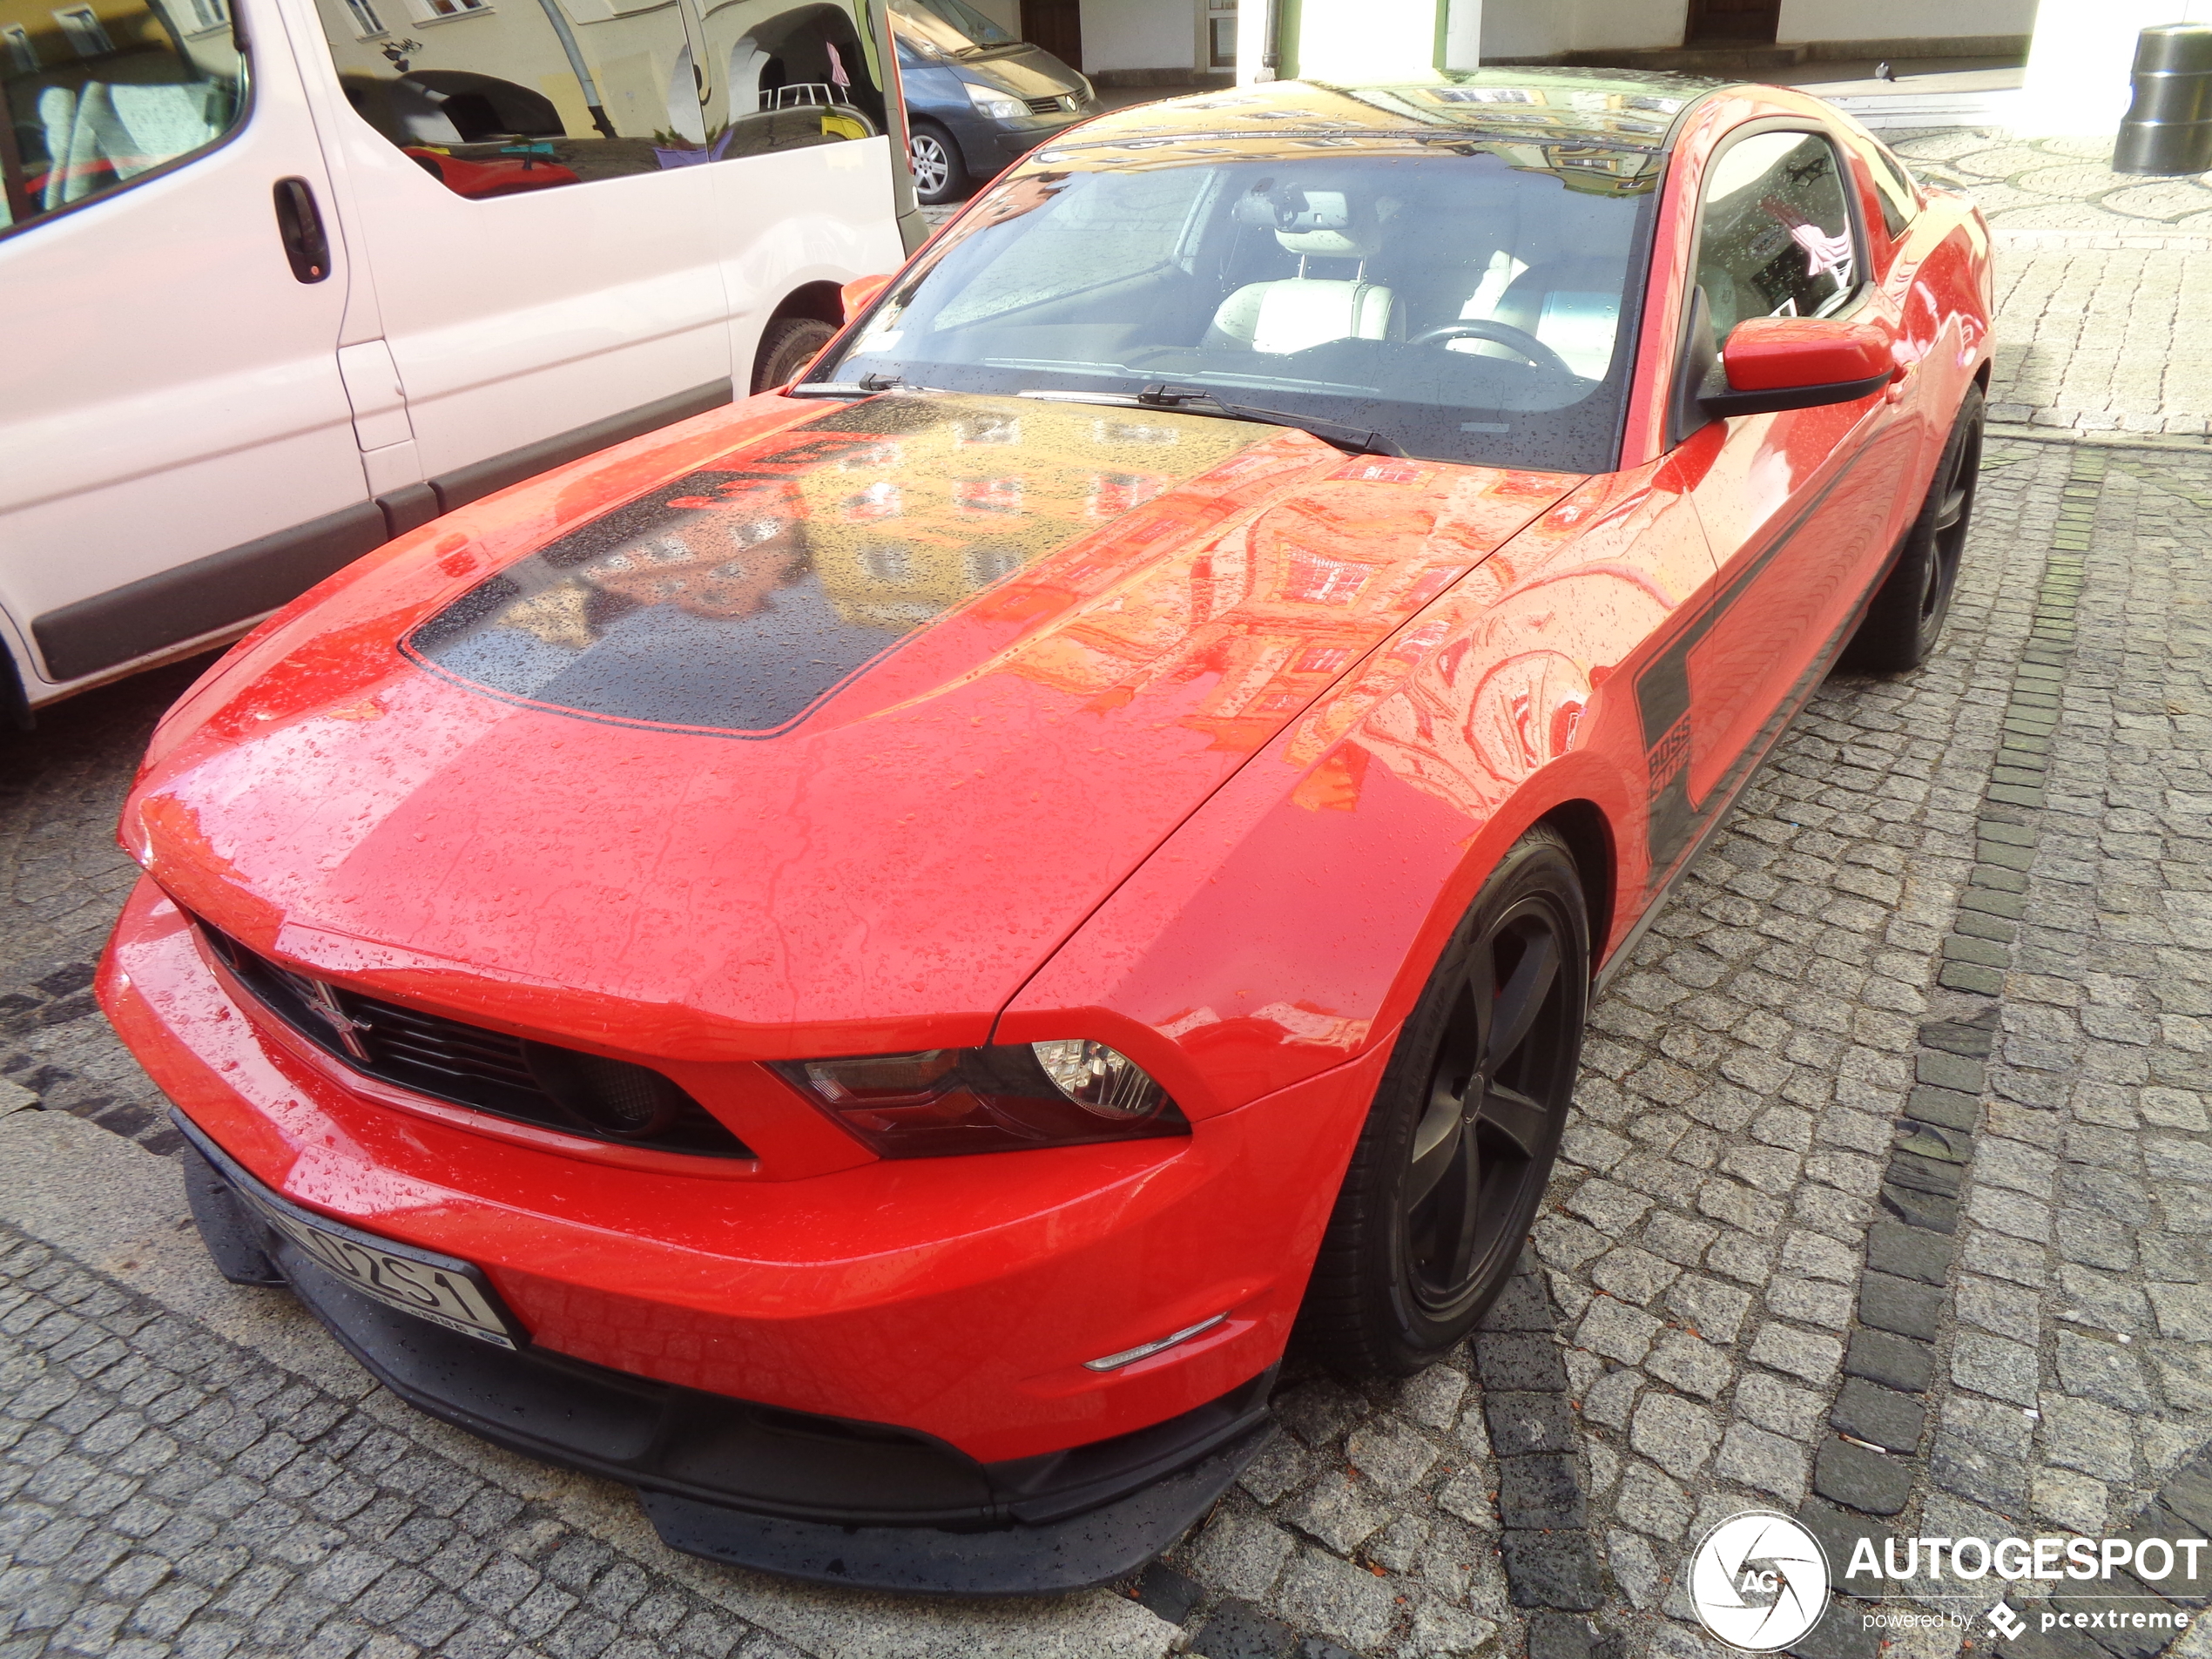
[{"label": "grey cobblestone ground in the foreground around the red car", "polygon": [[[1407,1383],[1294,1369],[1203,1528],[1051,1604],[675,1555],[217,1281],[84,1000],[184,670],[0,739],[0,1657],[1672,1659],[1717,1652],[1679,1575],[1741,1506],[2203,1533],[2212,458],[2000,438],[1982,484],[1936,661],[1823,688],[1599,1000],[1489,1329]],[[1803,1652],[1869,1655],[1858,1613]]]}]

